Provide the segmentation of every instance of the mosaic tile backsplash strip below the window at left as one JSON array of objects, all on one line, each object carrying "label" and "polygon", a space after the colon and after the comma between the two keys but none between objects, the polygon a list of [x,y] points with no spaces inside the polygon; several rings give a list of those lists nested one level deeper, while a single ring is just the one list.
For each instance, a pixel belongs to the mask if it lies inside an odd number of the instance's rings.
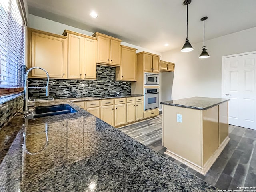
[{"label": "mosaic tile backsplash strip below the window at left", "polygon": [[23,107],[23,94],[0,104],[0,128],[2,128]]}]

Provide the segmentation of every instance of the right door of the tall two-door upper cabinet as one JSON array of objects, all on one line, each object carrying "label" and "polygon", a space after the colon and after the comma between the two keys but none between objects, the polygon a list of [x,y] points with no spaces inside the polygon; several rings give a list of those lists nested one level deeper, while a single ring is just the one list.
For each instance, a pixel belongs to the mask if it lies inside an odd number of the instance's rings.
[{"label": "right door of the tall two-door upper cabinet", "polygon": [[96,40],[84,38],[84,79],[96,79]]}]

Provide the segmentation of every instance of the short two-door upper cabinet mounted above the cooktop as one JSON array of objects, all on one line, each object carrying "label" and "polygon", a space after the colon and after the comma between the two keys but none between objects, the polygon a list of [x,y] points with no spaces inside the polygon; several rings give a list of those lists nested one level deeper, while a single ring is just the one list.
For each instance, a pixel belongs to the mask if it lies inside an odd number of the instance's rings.
[{"label": "short two-door upper cabinet mounted above the cooktop", "polygon": [[95,32],[97,38],[97,63],[111,66],[120,66],[121,41],[120,39]]}]

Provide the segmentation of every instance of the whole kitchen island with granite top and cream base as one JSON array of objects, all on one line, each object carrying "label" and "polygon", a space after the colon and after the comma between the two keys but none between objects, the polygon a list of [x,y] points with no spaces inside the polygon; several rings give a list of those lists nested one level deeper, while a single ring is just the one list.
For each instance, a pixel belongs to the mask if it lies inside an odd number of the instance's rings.
[{"label": "whole kitchen island with granite top and cream base", "polygon": [[230,140],[228,100],[192,97],[161,102],[165,154],[205,175]]}]

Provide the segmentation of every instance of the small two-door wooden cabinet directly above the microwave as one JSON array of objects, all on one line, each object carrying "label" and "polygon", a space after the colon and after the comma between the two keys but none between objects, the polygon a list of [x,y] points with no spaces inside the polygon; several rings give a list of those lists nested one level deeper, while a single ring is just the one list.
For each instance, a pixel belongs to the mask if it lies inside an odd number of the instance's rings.
[{"label": "small two-door wooden cabinet directly above the microwave", "polygon": [[137,56],[138,55],[142,55],[142,60],[140,60],[140,62],[143,62],[144,72],[159,73],[159,56],[158,55],[148,53],[148,52],[140,52],[140,53],[137,53]]}]

